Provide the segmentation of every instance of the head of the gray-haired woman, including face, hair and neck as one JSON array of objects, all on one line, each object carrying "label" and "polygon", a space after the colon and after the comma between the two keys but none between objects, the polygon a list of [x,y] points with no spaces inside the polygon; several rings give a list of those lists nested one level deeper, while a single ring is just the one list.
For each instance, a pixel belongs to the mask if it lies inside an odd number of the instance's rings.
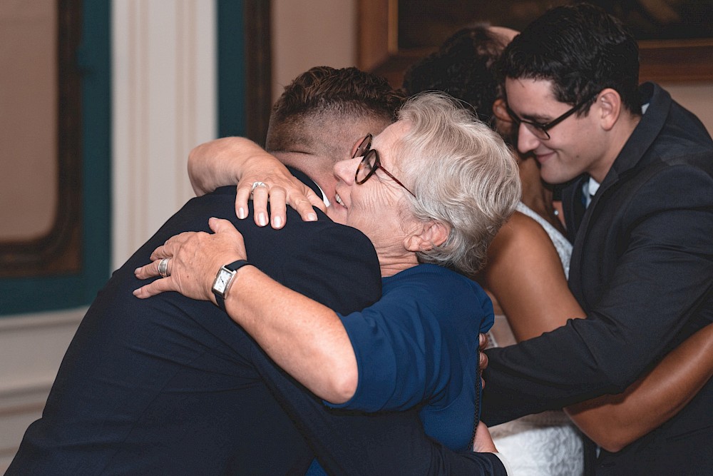
[{"label": "head of the gray-haired woman, including face, hair and neck", "polygon": [[[337,200],[328,214],[371,239],[381,274],[418,263],[477,273],[520,199],[517,164],[503,139],[461,103],[430,92],[406,101],[399,121],[371,139],[378,167],[359,144],[352,150],[365,157],[334,166]],[[356,178],[363,160],[373,174]]]}]

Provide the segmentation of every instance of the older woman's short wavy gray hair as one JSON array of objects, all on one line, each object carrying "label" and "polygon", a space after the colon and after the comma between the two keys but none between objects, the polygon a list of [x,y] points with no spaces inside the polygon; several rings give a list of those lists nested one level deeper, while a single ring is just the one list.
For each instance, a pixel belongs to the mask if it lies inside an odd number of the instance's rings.
[{"label": "older woman's short wavy gray hair", "polygon": [[443,244],[417,253],[419,262],[472,277],[520,201],[515,156],[498,133],[445,93],[414,96],[398,117],[408,124],[394,152],[406,183],[414,184],[411,211],[450,228]]}]

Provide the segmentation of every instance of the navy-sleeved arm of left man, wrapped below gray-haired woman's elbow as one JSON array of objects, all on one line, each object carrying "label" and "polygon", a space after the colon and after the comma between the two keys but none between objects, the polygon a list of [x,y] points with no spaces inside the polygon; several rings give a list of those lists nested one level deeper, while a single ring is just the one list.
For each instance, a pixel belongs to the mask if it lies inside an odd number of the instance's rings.
[{"label": "navy-sleeved arm of left man, wrapped below gray-haired woman's elbow", "polygon": [[[256,353],[261,353],[256,348]],[[419,412],[344,412],[330,410],[319,398],[300,391],[274,363],[259,356],[258,369],[273,395],[292,417],[317,455],[334,475],[498,475],[507,474],[486,427],[479,427],[484,445],[476,452],[454,452],[428,437]],[[488,444],[489,442],[489,444]]]}]

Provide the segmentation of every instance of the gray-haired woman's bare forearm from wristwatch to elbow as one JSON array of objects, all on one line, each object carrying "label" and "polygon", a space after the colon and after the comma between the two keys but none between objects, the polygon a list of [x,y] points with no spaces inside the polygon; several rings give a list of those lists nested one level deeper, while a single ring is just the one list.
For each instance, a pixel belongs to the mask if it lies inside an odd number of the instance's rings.
[{"label": "gray-haired woman's bare forearm from wristwatch to elbow", "polygon": [[318,397],[339,404],[356,392],[354,349],[331,309],[252,266],[237,271],[225,308],[277,365]]}]

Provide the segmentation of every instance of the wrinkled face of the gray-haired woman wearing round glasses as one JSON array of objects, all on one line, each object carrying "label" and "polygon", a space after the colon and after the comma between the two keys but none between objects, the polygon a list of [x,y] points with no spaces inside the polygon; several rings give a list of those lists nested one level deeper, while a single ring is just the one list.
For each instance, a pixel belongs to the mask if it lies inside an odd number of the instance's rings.
[{"label": "wrinkled face of the gray-haired woman wearing round glasses", "polygon": [[[402,121],[391,124],[374,136],[371,148],[378,151],[381,166],[412,188],[413,184],[401,173],[395,158],[399,138],[404,136],[406,128]],[[409,212],[409,192],[380,168],[364,183],[357,184],[354,178],[361,159],[351,158],[334,166],[334,175],[339,180],[337,199],[329,206],[327,214],[337,223],[360,230],[374,243],[377,251],[383,252],[386,248],[401,248],[402,251],[404,237],[416,223]]]}]

